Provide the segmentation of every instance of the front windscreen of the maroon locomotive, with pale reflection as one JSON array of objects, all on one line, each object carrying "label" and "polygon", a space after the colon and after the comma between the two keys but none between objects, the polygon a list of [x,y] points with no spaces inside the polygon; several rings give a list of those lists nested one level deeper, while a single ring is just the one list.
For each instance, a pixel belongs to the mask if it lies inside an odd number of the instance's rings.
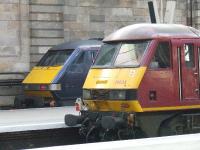
[{"label": "front windscreen of the maroon locomotive, with pale reflection", "polygon": [[140,65],[149,40],[106,43],[99,52],[93,67],[137,67]]}]

